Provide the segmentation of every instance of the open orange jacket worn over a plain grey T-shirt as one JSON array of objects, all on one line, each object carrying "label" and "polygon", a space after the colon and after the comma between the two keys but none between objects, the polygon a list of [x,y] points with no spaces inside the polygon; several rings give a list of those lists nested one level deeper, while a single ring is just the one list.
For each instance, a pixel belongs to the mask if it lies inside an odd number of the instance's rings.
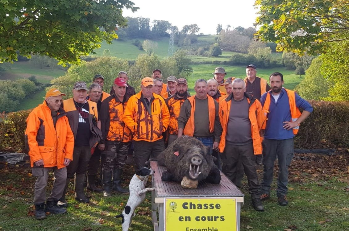
[{"label": "open orange jacket worn over a plain grey T-shirt", "polygon": [[[221,125],[223,128],[221,141],[218,145],[219,151],[223,152],[225,148],[225,135],[227,135],[228,128],[228,120],[230,113],[230,105],[231,105],[232,95],[229,95],[228,98],[222,100],[219,104],[219,118],[221,121]],[[247,102],[249,104],[248,107],[248,118],[251,122],[251,137],[253,144],[253,152],[254,155],[262,154],[262,137],[259,134],[259,131],[263,124],[265,124],[265,116],[262,111],[262,106],[259,103],[258,99],[251,104],[250,98],[247,98]]]}]

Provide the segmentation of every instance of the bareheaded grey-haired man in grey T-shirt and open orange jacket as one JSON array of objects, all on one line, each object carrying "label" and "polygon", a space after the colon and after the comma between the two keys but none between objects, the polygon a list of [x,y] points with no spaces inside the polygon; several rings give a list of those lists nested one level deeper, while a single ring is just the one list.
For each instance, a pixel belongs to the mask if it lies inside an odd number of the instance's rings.
[{"label": "bareheaded grey-haired man in grey T-shirt and open orange jacket", "polygon": [[242,79],[235,79],[232,88],[232,94],[220,102],[219,110],[223,128],[218,146],[224,163],[222,172],[235,183],[237,164],[241,162],[250,187],[252,205],[255,210],[263,211],[255,155],[262,153],[260,131],[265,116],[258,99],[245,93]]}]

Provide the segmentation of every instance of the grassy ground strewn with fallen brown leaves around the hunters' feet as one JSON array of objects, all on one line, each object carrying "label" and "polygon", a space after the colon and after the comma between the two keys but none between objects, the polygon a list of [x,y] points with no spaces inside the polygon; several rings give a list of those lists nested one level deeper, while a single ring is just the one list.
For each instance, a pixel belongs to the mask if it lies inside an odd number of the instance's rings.
[{"label": "grassy ground strewn with fallen brown leaves around the hunters' feet", "polygon": [[[277,176],[277,167],[274,175]],[[131,179],[133,167],[126,166],[125,178]],[[262,169],[258,170],[262,178]],[[74,201],[73,184],[69,185],[68,213],[50,215],[43,221],[34,217],[34,181],[28,165],[0,163],[0,230],[121,230],[121,213],[128,196],[113,194],[103,198],[90,193],[91,203]],[[129,180],[125,180],[124,186]],[[50,181],[50,186],[52,181]],[[275,189],[274,184],[272,185]],[[295,154],[290,167],[289,206],[277,204],[275,191],[270,200],[263,202],[266,211],[257,212],[251,206],[247,181],[241,209],[240,230],[283,231],[344,231],[349,230],[349,155]],[[130,230],[150,231],[151,194],[136,210]]]}]

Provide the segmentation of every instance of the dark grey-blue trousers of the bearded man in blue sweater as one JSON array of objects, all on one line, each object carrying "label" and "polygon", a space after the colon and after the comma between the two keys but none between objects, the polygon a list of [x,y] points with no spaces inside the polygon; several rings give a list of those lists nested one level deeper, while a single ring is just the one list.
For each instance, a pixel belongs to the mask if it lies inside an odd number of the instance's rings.
[{"label": "dark grey-blue trousers of the bearded man in blue sweater", "polygon": [[273,182],[274,162],[277,156],[279,164],[279,176],[277,178],[276,195],[287,194],[288,167],[291,164],[293,151],[293,138],[286,140],[263,140],[263,181],[262,192],[270,194],[270,185]]}]

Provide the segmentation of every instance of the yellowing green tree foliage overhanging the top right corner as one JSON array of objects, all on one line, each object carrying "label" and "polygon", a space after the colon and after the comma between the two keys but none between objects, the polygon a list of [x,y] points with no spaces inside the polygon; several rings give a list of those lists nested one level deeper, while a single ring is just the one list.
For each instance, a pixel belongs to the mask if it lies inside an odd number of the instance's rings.
[{"label": "yellowing green tree foliage overhanging the top right corner", "polygon": [[260,9],[257,37],[276,42],[278,51],[316,54],[349,38],[348,1],[257,0],[255,6]]}]

